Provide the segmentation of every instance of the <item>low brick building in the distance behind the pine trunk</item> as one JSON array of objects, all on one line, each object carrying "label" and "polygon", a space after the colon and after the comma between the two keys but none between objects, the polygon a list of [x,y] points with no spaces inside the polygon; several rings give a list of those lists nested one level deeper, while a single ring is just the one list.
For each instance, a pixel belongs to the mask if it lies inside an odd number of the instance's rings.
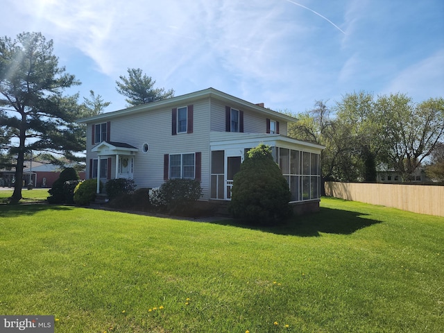
[{"label": "low brick building in the distance behind the pine trunk", "polygon": [[[67,166],[68,167],[68,166]],[[53,182],[57,180],[62,171],[62,167],[55,164],[48,164],[42,162],[32,163],[27,161],[23,169],[23,187],[27,187],[29,183],[37,188],[50,188]],[[85,171],[79,172],[80,179],[85,179]],[[0,171],[0,186],[14,187],[15,171]]]}]

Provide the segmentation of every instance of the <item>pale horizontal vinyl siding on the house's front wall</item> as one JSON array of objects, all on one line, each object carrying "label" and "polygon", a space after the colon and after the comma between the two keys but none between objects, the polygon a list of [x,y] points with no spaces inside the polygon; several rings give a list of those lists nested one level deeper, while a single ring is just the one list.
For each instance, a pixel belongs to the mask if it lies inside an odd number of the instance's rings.
[{"label": "pale horizontal vinyl siding on the house's front wall", "polygon": [[[159,187],[164,182],[164,154],[201,152],[201,186],[203,198],[209,197],[210,186],[210,112],[208,99],[192,101],[194,105],[193,133],[171,135],[171,106],[126,114],[123,117],[113,118],[112,141],[123,142],[139,149],[134,157],[133,177],[138,188]],[[181,105],[177,105],[178,108]],[[225,123],[225,122],[224,122]],[[87,135],[91,137],[91,128],[88,126]],[[87,140],[88,158],[97,158],[91,149],[94,145]],[[149,151],[143,153],[144,144],[149,145]],[[112,156],[111,177],[115,175],[115,156]],[[194,172],[194,171],[193,171]],[[87,175],[89,166],[87,165]]]}]

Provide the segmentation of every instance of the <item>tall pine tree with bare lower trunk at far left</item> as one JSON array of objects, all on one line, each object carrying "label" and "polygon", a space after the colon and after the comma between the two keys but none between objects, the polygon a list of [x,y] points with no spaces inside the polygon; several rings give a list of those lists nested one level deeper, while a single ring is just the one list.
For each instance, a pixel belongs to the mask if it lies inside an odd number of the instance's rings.
[{"label": "tall pine tree with bare lower trunk at far left", "polygon": [[75,159],[72,152],[85,149],[74,124],[78,95],[62,95],[79,84],[59,67],[53,41],[41,33],[21,33],[15,40],[0,37],[0,127],[8,131],[3,148],[17,157],[12,202],[22,198],[25,153],[61,153]]}]

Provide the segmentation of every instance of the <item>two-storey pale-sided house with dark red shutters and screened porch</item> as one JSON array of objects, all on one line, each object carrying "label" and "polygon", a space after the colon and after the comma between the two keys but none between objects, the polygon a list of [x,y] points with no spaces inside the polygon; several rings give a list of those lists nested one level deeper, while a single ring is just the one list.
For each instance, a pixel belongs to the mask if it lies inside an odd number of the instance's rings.
[{"label": "two-storey pale-sided house with dark red shutters and screened porch", "polygon": [[209,88],[78,123],[87,124],[88,178],[133,178],[139,188],[159,187],[171,178],[198,179],[203,200],[230,200],[246,151],[264,143],[289,182],[292,201],[318,208],[324,147],[287,137],[293,121]]}]

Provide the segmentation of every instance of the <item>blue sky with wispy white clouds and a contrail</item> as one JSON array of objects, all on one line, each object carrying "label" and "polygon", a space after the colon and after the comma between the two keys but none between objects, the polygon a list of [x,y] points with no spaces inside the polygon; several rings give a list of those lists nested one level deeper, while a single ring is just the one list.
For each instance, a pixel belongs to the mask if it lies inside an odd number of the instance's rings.
[{"label": "blue sky with wispy white clouds and a contrail", "polygon": [[[444,96],[443,0],[3,0],[0,35],[40,31],[112,104],[141,68],[176,96],[214,87],[295,114],[343,94]],[[6,14],[6,15],[5,15]],[[72,93],[72,92],[70,92]],[[82,99],[83,100],[83,99]]]}]

